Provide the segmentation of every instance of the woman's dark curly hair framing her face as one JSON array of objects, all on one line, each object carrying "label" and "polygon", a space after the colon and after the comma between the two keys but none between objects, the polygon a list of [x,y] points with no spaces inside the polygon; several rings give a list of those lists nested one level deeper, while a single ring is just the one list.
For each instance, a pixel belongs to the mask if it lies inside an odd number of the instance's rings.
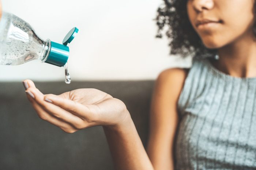
[{"label": "woman's dark curly hair framing her face", "polygon": [[[204,46],[199,35],[192,27],[187,14],[188,0],[163,0],[157,10],[155,20],[158,25],[156,37],[162,38],[163,28],[167,25],[166,36],[170,40],[170,55],[192,56],[196,58],[211,57],[217,54],[216,49],[208,49]],[[254,9],[256,1],[254,3]],[[255,13],[255,11],[254,11]],[[253,25],[253,33],[256,36],[256,24]]]}]

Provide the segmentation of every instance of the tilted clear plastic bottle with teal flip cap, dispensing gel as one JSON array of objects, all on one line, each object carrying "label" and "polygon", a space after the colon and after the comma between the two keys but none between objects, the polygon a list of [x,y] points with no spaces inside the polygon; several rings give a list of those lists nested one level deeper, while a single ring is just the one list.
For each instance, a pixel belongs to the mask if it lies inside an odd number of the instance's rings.
[{"label": "tilted clear plastic bottle with teal flip cap, dispensing gel", "polygon": [[[70,43],[78,29],[72,28],[63,44],[42,40],[34,29],[19,17],[3,12],[0,20],[0,65],[19,65],[31,60],[53,64],[67,69]],[[68,73],[68,71],[65,71]]]}]

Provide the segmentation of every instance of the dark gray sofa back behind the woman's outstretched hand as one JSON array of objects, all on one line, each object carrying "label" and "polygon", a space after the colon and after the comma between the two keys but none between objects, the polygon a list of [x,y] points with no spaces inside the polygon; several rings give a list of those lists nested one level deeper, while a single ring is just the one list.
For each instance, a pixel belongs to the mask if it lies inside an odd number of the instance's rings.
[{"label": "dark gray sofa back behind the woman's outstretched hand", "polygon": [[[44,94],[97,88],[122,100],[146,146],[154,80],[35,82]],[[26,98],[22,82],[0,82],[0,169],[112,170],[101,126],[67,134],[41,120]]]}]

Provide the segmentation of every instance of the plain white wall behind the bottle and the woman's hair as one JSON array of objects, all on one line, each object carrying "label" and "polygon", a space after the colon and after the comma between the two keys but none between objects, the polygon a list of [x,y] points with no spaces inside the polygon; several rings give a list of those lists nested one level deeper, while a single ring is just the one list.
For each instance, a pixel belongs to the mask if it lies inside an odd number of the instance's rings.
[{"label": "plain white wall behind the bottle and the woman's hair", "polygon": [[[168,41],[156,39],[153,19],[162,0],[2,0],[42,39],[61,43],[72,27],[79,33],[69,44],[72,80],[155,79],[169,67],[189,67],[169,55]],[[0,66],[0,81],[64,80],[64,68],[31,61]]]}]

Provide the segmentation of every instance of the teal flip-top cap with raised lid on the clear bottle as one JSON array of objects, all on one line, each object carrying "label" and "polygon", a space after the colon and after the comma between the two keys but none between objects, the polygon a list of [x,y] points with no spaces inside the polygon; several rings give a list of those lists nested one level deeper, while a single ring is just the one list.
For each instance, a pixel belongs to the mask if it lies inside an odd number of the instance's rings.
[{"label": "teal flip-top cap with raised lid on the clear bottle", "polygon": [[50,54],[45,63],[63,67],[67,63],[69,57],[69,47],[67,47],[67,44],[71,43],[77,33],[78,28],[74,27],[64,37],[63,44],[51,41]]}]

